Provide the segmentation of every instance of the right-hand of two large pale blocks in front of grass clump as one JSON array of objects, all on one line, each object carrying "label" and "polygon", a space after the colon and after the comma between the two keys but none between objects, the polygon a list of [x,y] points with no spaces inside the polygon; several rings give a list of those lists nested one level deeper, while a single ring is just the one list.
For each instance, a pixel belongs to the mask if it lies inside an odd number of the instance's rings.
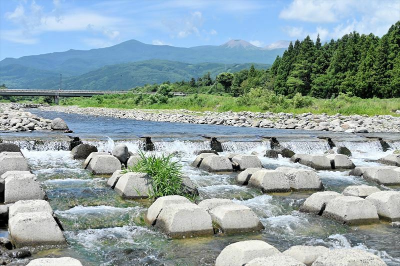
[{"label": "right-hand of two large pale blocks in front of grass clump", "polygon": [[226,204],[208,211],[213,224],[223,233],[251,232],[264,229],[254,212],[243,205]]}]

